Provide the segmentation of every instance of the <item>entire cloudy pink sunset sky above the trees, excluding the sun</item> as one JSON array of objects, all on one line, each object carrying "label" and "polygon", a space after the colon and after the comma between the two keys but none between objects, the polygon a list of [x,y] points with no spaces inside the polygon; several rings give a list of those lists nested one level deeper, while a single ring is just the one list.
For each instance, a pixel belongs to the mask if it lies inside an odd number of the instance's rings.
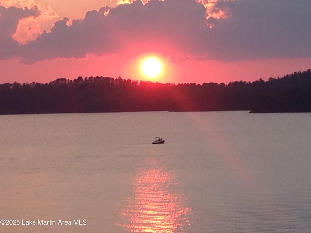
[{"label": "entire cloudy pink sunset sky above the trees, excluding the sun", "polygon": [[139,64],[150,54],[163,62],[153,80],[161,83],[253,81],[310,68],[308,0],[209,1],[1,1],[0,83],[146,80]]}]

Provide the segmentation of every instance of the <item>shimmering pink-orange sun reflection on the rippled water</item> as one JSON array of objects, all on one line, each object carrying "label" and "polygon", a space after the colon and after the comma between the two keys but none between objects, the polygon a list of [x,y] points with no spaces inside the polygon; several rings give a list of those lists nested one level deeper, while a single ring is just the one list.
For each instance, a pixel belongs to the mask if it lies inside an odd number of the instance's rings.
[{"label": "shimmering pink-orange sun reflection on the rippled water", "polygon": [[183,207],[182,197],[174,194],[176,185],[169,172],[141,172],[133,185],[134,196],[121,213],[126,221],[123,226],[129,232],[183,232],[183,226],[189,225],[189,208]]}]

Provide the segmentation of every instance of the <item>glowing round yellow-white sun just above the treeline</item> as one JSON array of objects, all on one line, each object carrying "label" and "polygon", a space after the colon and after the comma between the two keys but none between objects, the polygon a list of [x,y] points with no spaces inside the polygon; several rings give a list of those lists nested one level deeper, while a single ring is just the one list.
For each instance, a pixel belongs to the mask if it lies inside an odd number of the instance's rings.
[{"label": "glowing round yellow-white sun just above the treeline", "polygon": [[141,63],[141,71],[149,78],[155,78],[162,72],[163,66],[160,59],[156,57],[147,57]]}]

